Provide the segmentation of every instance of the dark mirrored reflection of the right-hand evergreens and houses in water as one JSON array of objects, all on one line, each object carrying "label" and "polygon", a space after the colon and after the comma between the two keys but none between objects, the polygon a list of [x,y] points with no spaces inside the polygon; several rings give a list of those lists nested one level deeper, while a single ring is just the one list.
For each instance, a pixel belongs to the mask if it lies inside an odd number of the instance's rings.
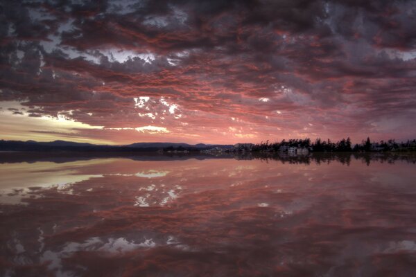
[{"label": "dark mirrored reflection of the right-hand evergreens and houses in water", "polygon": [[333,161],[343,163],[347,166],[351,163],[352,159],[360,160],[367,166],[371,162],[379,163],[395,163],[396,161],[406,161],[408,163],[416,163],[416,155],[404,155],[397,153],[313,153],[308,155],[290,155],[286,153],[280,154],[267,154],[267,153],[248,153],[248,154],[236,154],[234,159],[249,160],[259,159],[261,161],[268,162],[269,160],[281,161],[281,163],[331,163]]}]

